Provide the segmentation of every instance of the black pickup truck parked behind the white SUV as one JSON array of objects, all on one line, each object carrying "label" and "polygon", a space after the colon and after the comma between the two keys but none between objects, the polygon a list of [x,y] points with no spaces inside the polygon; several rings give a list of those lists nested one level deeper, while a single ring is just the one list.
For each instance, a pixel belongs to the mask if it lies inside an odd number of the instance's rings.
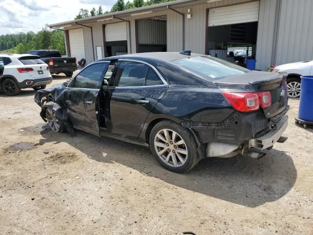
[{"label": "black pickup truck parked behind the white SUV", "polygon": [[31,55],[38,55],[42,61],[49,65],[50,72],[59,74],[65,73],[71,77],[77,70],[75,57],[62,57],[58,50],[30,50],[26,52]]}]

